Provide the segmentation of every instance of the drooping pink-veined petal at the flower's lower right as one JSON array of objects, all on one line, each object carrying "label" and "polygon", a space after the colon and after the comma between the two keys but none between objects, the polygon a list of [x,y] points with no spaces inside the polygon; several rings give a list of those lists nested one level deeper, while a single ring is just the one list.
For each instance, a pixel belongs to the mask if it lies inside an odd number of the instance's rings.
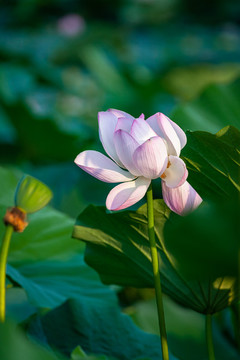
[{"label": "drooping pink-veined petal at the flower's lower right", "polygon": [[186,215],[202,202],[202,198],[187,181],[177,188],[169,188],[162,181],[162,194],[167,206],[179,215]]}]

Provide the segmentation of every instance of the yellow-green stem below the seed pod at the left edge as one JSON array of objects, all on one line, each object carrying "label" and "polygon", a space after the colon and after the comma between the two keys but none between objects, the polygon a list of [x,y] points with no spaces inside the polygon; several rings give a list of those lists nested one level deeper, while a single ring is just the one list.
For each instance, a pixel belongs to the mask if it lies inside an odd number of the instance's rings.
[{"label": "yellow-green stem below the seed pod at the left edge", "polygon": [[5,321],[6,266],[7,266],[8,249],[9,249],[12,233],[13,233],[12,225],[7,225],[0,250],[0,322]]}]

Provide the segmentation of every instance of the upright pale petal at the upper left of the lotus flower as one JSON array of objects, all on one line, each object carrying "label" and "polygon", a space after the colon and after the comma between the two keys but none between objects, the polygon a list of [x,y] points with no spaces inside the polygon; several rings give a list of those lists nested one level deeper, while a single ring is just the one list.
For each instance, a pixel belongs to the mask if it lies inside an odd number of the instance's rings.
[{"label": "upright pale petal at the upper left of the lotus flower", "polygon": [[113,134],[117,121],[118,118],[109,111],[100,111],[98,113],[99,137],[103,148],[116,163],[122,166],[113,144]]}]

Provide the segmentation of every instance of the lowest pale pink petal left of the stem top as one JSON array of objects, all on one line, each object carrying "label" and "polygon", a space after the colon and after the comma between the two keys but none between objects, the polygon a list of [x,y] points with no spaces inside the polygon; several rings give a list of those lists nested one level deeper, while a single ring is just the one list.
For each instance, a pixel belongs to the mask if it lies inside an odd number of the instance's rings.
[{"label": "lowest pale pink petal left of the stem top", "polygon": [[115,186],[108,194],[106,206],[109,210],[126,209],[141,200],[147,192],[151,180],[143,177]]}]

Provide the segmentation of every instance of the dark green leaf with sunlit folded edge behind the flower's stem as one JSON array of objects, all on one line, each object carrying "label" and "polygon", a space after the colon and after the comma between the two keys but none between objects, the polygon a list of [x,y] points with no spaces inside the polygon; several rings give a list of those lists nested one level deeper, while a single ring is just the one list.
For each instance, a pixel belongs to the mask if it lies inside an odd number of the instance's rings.
[{"label": "dark green leaf with sunlit folded edge behind the flower's stem", "polygon": [[[225,279],[222,288],[221,283],[218,286],[210,279],[189,281],[184,277],[163,243],[163,228],[170,210],[162,200],[155,200],[154,214],[164,292],[202,313],[228,306],[233,300],[234,281]],[[112,214],[107,214],[103,207],[89,206],[78,217],[73,236],[87,243],[86,261],[99,272],[104,283],[153,287],[146,205],[137,212]]]}]

